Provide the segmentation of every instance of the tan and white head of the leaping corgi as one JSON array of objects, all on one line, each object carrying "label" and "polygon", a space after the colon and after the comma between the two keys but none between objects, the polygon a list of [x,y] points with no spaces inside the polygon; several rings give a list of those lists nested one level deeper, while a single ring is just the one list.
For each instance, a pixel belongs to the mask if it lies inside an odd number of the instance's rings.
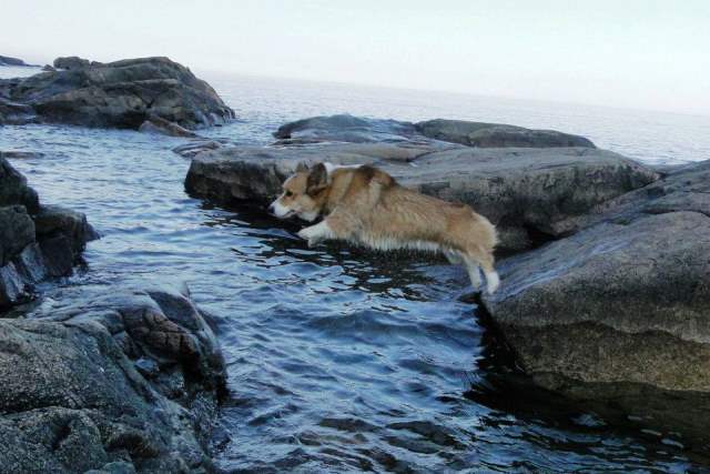
[{"label": "tan and white head of the leaping corgi", "polygon": [[268,206],[278,219],[296,215],[304,221],[315,221],[325,205],[328,173],[323,163],[312,169],[300,164],[296,174],[284,181],[283,193]]}]

